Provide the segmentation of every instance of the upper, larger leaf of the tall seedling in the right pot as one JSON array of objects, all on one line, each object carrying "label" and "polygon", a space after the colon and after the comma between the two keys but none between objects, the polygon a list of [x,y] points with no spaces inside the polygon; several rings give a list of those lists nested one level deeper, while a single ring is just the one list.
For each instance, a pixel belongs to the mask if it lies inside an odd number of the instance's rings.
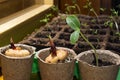
[{"label": "upper, larger leaf of the tall seedling in the right pot", "polygon": [[80,30],[80,21],[75,15],[69,15],[66,18],[67,24],[73,29],[73,30]]}]

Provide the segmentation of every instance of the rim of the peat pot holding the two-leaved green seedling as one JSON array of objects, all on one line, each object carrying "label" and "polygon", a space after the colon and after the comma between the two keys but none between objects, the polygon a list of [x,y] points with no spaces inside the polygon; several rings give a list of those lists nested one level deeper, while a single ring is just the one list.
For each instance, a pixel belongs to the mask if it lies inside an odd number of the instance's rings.
[{"label": "rim of the peat pot holding the two-leaved green seedling", "polygon": [[[80,57],[82,57],[83,55],[87,55],[87,54],[93,54],[94,50],[88,50],[88,51],[84,51],[84,52],[81,52],[79,53],[75,59],[78,61],[78,62],[81,62],[83,64],[86,64],[88,66],[91,66],[91,67],[101,67],[101,68],[107,68],[107,67],[112,67],[112,66],[116,66],[116,65],[120,65],[120,56],[118,54],[115,54],[114,52],[110,51],[110,50],[102,50],[102,49],[97,49],[96,52],[99,52],[98,54],[107,54],[107,55],[110,55],[110,56],[113,56],[115,58],[115,65],[108,65],[108,66],[94,66],[94,65],[91,65],[89,63],[87,63],[86,61],[84,60],[80,60]],[[98,55],[98,56],[99,56]]]}]

